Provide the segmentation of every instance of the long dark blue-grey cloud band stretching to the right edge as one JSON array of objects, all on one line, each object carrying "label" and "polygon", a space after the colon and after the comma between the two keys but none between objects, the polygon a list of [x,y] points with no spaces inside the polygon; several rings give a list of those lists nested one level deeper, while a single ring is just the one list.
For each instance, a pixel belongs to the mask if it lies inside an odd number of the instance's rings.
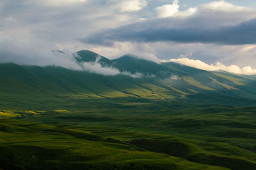
[{"label": "long dark blue-grey cloud band stretching to the right edge", "polygon": [[216,43],[225,45],[248,45],[256,43],[256,19],[239,25],[215,28],[182,27],[154,28],[144,22],[108,29],[82,39],[83,42],[112,45],[113,41],[156,42],[175,41],[179,43]]}]

